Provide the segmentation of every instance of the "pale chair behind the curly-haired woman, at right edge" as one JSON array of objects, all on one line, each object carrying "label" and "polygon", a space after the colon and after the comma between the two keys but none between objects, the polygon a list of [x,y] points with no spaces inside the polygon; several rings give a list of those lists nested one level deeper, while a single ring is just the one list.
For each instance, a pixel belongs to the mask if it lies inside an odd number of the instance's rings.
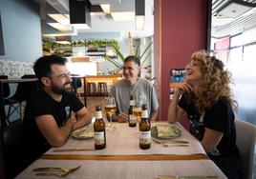
[{"label": "pale chair behind the curly-haired woman, at right edge", "polygon": [[236,144],[241,154],[243,177],[251,179],[253,173],[253,157],[256,140],[256,127],[236,119]]}]

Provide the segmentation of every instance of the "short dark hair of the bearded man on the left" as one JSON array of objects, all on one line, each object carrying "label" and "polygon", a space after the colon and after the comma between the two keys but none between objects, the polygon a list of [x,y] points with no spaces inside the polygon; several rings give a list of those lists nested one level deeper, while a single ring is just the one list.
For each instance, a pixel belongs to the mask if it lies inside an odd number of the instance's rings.
[{"label": "short dark hair of the bearded man on the left", "polygon": [[38,58],[33,64],[33,70],[38,79],[42,77],[49,77],[51,75],[53,64],[65,65],[67,62],[66,58],[58,55],[42,56]]}]

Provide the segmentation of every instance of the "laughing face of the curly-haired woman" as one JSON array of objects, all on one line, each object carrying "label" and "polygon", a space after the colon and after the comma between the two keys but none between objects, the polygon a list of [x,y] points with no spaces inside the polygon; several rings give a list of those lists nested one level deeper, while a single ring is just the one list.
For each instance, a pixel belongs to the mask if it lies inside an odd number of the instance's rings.
[{"label": "laughing face of the curly-haired woman", "polygon": [[190,84],[196,84],[199,83],[203,73],[200,68],[200,61],[197,60],[191,60],[189,64],[186,65],[186,76],[185,80]]}]

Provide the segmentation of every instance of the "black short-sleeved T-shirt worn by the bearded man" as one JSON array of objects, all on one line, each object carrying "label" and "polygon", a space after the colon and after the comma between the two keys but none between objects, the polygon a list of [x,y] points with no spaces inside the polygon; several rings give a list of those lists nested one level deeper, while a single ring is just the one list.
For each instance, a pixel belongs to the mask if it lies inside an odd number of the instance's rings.
[{"label": "black short-sleeved T-shirt worn by the bearded man", "polygon": [[24,126],[32,150],[40,155],[51,148],[41,131],[37,128],[35,117],[46,114],[53,115],[57,126],[61,127],[70,118],[72,110],[76,112],[83,107],[75,93],[62,95],[60,102],[53,100],[44,90],[33,93],[27,101],[24,113]]}]

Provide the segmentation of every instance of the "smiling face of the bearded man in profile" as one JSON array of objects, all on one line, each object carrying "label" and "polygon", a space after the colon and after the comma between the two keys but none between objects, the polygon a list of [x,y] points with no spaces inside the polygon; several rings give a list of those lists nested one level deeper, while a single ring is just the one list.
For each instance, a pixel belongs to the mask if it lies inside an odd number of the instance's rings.
[{"label": "smiling face of the bearded man in profile", "polygon": [[52,74],[50,80],[53,92],[58,94],[73,92],[72,79],[67,67],[54,64],[51,69]]}]

